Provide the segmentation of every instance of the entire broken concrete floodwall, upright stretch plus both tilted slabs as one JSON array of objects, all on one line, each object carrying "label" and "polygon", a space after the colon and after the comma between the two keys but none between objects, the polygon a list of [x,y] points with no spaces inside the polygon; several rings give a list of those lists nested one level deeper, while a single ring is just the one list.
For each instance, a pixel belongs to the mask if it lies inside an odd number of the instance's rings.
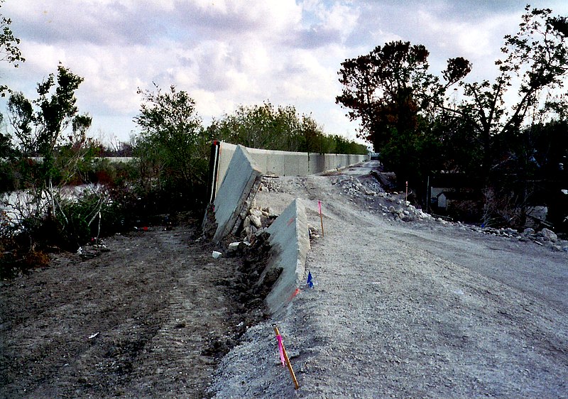
[{"label": "entire broken concrete floodwall, upright stretch plus both tilted slabs", "polygon": [[[217,195],[214,196],[214,213],[217,229],[214,241],[222,241],[239,229],[263,175],[310,175],[327,170],[345,168],[366,160],[366,155],[290,153],[265,151],[216,143],[219,159],[217,169]],[[220,183],[218,183],[220,181]],[[206,218],[207,219],[207,218]],[[280,312],[290,303],[299,281],[305,275],[305,261],[310,249],[305,208],[294,200],[268,228],[272,258],[259,278],[274,268],[282,273],[266,297],[272,313]]]}]

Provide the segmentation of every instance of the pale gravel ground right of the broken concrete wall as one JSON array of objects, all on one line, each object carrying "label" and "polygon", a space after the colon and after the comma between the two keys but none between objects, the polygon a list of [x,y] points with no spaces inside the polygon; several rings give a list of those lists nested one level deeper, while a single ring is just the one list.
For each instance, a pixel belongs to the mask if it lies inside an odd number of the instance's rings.
[{"label": "pale gravel ground right of the broken concrete wall", "polygon": [[[457,224],[394,222],[337,176],[279,177],[257,203],[305,203],[317,285],[251,327],[217,398],[567,397],[568,253]],[[279,363],[278,324],[300,389]]]}]

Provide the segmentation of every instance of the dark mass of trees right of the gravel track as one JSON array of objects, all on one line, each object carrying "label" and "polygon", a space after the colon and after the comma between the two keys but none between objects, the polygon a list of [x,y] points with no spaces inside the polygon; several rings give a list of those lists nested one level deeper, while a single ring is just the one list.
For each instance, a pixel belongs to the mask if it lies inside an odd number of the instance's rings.
[{"label": "dark mass of trees right of the gravel track", "polygon": [[522,227],[531,204],[546,204],[568,231],[567,35],[566,17],[526,6],[496,78],[479,82],[469,60],[433,75],[425,46],[393,41],[342,63],[336,101],[422,206],[428,176],[460,173],[479,182],[479,222]]}]

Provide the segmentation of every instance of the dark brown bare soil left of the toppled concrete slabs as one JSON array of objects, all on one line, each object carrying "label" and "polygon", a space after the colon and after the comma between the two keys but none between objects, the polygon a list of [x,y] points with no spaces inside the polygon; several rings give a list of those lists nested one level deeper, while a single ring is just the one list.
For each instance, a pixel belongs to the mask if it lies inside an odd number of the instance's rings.
[{"label": "dark brown bare soil left of the toppled concrete slabs", "polygon": [[0,397],[206,397],[220,356],[266,314],[250,263],[213,259],[200,233],[117,234],[2,281]]}]

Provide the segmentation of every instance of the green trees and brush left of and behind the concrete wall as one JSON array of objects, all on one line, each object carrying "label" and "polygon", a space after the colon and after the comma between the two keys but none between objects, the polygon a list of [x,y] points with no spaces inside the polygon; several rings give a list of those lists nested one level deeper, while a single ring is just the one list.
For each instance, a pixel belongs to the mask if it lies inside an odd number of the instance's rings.
[{"label": "green trees and brush left of and behind the concrete wall", "polygon": [[[0,25],[0,60],[18,67],[25,58],[11,19],[0,13]],[[87,134],[92,116],[80,112],[75,96],[82,82],[60,64],[38,83],[34,99],[0,86],[8,97],[6,116],[0,114],[0,275],[47,261],[48,248],[75,251],[114,231],[151,223],[155,214],[201,212],[213,140],[281,151],[367,153],[364,145],[324,133],[294,106],[270,102],[239,106],[204,126],[194,99],[173,85],[138,89],[138,133],[108,148]],[[110,163],[104,155],[133,160]],[[70,196],[70,187],[80,188]]]}]

